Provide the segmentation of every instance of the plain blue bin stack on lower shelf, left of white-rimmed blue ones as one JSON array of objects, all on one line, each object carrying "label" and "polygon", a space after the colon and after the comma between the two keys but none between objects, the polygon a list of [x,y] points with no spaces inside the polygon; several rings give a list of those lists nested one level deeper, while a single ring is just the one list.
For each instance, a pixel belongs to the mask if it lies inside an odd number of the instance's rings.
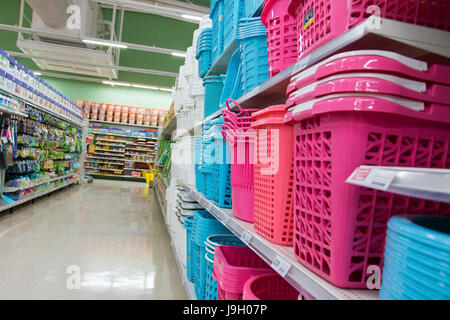
[{"label": "plain blue bin stack on lower shelf, left of white-rimmed blue ones", "polygon": [[194,288],[198,300],[203,300],[205,295],[206,269],[201,268],[202,264],[205,264],[202,262],[205,260],[205,242],[209,236],[215,234],[230,234],[230,231],[209,212],[196,211],[192,224],[191,242],[194,244],[191,247],[193,249],[191,254],[194,257]]}]

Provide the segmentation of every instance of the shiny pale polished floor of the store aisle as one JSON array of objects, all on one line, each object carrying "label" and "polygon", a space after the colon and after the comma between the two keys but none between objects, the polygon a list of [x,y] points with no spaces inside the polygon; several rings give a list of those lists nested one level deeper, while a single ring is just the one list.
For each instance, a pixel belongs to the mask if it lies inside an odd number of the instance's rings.
[{"label": "shiny pale polished floor of the store aisle", "polygon": [[186,299],[153,197],[95,180],[0,213],[0,299]]}]

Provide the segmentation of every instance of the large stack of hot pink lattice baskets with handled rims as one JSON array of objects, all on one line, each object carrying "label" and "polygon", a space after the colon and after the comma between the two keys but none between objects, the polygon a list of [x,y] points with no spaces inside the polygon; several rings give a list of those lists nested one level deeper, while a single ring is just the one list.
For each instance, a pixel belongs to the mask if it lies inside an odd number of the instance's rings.
[{"label": "large stack of hot pink lattice baskets with handled rims", "polygon": [[382,267],[387,221],[450,205],[346,184],[360,165],[450,168],[450,67],[387,51],[337,54],[292,77],[294,251],[340,287]]}]

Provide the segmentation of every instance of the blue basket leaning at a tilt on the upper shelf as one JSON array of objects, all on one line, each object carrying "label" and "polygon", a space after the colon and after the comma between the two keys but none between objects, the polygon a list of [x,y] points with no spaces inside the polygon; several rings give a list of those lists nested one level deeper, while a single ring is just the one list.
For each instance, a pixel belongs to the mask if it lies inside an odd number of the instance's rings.
[{"label": "blue basket leaning at a tilt on the upper shelf", "polygon": [[228,63],[227,77],[220,97],[220,106],[223,107],[227,99],[237,100],[242,96],[241,53],[237,49]]}]

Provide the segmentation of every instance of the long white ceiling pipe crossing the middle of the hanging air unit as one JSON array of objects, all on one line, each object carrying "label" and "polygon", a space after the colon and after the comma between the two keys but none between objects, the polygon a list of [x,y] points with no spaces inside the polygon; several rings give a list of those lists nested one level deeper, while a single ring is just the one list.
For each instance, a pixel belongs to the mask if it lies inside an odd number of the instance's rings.
[{"label": "long white ceiling pipe crossing the middle of the hanging air unit", "polygon": [[156,47],[156,46],[146,46],[146,45],[142,45],[142,44],[135,44],[135,43],[128,43],[128,42],[122,42],[122,41],[110,41],[110,40],[106,40],[106,39],[99,39],[99,38],[90,38],[90,37],[77,37],[77,36],[72,36],[69,34],[61,34],[58,32],[48,32],[48,31],[38,31],[38,30],[33,30],[30,28],[26,28],[26,27],[18,27],[18,26],[11,26],[11,25],[7,25],[7,24],[0,24],[0,29],[1,30],[7,30],[7,31],[14,31],[14,32],[21,32],[21,33],[32,33],[32,34],[39,34],[39,35],[47,35],[47,36],[58,36],[58,37],[64,37],[66,39],[70,39],[70,40],[77,40],[77,41],[82,41],[82,40],[90,40],[90,41],[101,41],[103,43],[106,44],[114,44],[114,45],[119,45],[119,46],[126,46],[129,49],[132,50],[139,50],[139,51],[147,51],[147,52],[155,52],[155,53],[162,53],[162,54],[169,54],[172,55],[173,53],[176,54],[181,54],[181,55],[186,55],[185,51],[181,51],[181,50],[175,50],[175,49],[167,49],[167,48],[160,48],[160,47]]}]

